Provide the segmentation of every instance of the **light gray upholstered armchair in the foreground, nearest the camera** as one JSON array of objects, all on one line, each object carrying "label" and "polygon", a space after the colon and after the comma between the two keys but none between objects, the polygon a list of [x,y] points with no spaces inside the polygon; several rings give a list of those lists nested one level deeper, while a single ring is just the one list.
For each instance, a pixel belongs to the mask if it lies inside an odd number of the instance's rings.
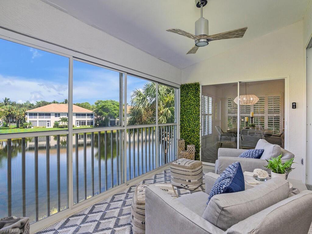
[{"label": "light gray upholstered armchair in the foreground, nearest the camera", "polygon": [[145,233],[306,234],[309,231],[312,191],[288,197],[288,182],[273,178],[242,192],[215,195],[207,206],[208,194],[218,177],[207,173],[206,193],[196,192],[177,199],[154,185],[147,187]]}]

